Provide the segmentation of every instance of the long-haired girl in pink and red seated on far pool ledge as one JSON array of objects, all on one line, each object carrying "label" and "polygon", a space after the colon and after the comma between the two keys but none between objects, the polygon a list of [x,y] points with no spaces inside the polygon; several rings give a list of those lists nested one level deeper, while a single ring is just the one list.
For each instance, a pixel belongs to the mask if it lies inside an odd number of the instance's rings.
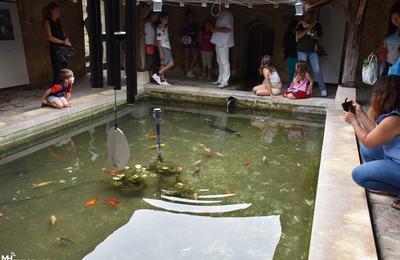
[{"label": "long-haired girl in pink and red seated on far pool ledge", "polygon": [[308,65],[305,61],[299,61],[296,64],[295,77],[290,87],[283,94],[290,99],[310,98],[312,95],[313,80],[308,73]]}]

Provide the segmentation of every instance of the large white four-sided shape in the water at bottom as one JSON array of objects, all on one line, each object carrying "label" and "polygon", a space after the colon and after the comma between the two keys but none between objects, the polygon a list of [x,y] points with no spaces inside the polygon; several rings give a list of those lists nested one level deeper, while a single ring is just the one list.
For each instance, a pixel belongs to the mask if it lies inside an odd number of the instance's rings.
[{"label": "large white four-sided shape in the water at bottom", "polygon": [[84,259],[272,259],[279,216],[214,218],[137,210]]}]

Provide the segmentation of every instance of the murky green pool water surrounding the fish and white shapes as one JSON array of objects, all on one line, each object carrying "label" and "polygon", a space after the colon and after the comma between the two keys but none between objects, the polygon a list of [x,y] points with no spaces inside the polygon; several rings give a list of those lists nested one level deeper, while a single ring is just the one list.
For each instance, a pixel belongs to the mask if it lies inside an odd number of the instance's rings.
[{"label": "murky green pool water surrounding the fish and white shapes", "polygon": [[[149,138],[155,131],[151,113],[155,106],[146,103],[119,118],[130,144],[131,166],[147,165],[156,156],[149,148],[155,144]],[[106,147],[111,118],[66,130],[2,158],[0,254],[80,259],[124,225],[135,210],[155,209],[143,198],[161,199],[161,189],[182,183],[190,191],[185,195],[188,199],[234,193],[223,204],[251,203],[247,209],[206,214],[211,217],[279,215],[282,235],[274,259],[307,259],[323,117],[268,111],[227,114],[223,108],[165,105],[161,123],[163,157],[182,172],[177,177],[147,172],[142,176],[145,187],[133,194],[117,190],[102,170],[112,168]],[[240,136],[211,124],[227,126]],[[47,186],[34,186],[49,181]],[[94,198],[97,203],[87,207]],[[107,204],[109,198],[119,204]],[[54,225],[51,215],[56,217]],[[57,237],[73,243],[60,243]],[[151,250],[151,245],[143,250]]]}]

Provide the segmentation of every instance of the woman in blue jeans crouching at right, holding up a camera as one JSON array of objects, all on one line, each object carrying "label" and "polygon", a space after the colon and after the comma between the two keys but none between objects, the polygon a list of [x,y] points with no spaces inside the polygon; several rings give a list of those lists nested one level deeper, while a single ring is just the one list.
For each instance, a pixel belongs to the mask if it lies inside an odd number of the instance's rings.
[{"label": "woman in blue jeans crouching at right, holding up a camera", "polygon": [[396,196],[395,209],[400,209],[399,86],[399,76],[383,77],[374,84],[369,116],[355,101],[355,114],[344,112],[360,142],[364,162],[353,170],[353,180],[368,190]]}]

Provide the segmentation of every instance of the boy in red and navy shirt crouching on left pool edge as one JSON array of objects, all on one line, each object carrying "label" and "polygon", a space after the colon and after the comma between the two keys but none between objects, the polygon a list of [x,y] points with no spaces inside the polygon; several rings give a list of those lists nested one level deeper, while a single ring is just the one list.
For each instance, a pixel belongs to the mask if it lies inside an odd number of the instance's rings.
[{"label": "boy in red and navy shirt crouching on left pool edge", "polygon": [[42,107],[51,106],[55,108],[70,107],[69,100],[72,94],[72,84],[75,77],[72,70],[62,69],[60,71],[61,83],[54,84],[44,92],[42,96]]}]

